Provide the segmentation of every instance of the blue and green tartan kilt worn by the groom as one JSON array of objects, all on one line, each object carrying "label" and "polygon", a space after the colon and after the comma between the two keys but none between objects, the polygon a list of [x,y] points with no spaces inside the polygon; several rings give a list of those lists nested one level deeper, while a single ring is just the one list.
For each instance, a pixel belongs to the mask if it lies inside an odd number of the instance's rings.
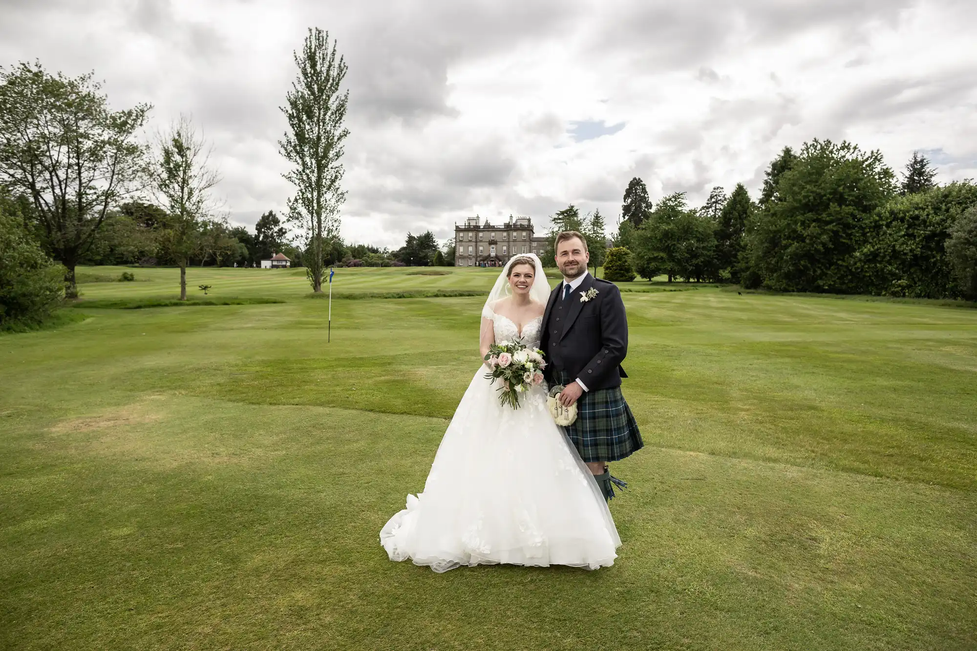
[{"label": "blue and green tartan kilt worn by the groom", "polygon": [[[574,381],[557,369],[553,379],[563,385]],[[619,386],[585,391],[576,401],[576,420],[562,429],[585,462],[617,461],[645,446]]]}]

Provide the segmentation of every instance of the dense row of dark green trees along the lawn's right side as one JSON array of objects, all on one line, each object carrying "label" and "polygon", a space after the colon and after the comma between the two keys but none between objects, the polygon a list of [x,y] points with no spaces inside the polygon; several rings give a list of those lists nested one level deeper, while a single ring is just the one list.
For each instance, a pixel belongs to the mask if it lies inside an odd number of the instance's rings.
[{"label": "dense row of dark green trees along the lawn's right side", "polygon": [[755,201],[738,184],[699,207],[685,193],[653,204],[635,178],[605,275],[977,299],[977,185],[935,177],[918,152],[900,183],[880,152],[814,140],[771,161]]}]

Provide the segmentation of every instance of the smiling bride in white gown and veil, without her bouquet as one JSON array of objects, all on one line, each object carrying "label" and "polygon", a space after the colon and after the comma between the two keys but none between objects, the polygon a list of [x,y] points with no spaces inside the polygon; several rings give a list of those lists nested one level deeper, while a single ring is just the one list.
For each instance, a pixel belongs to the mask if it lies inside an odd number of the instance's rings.
[{"label": "smiling bride in white gown and veil, without her bouquet", "polygon": [[[505,266],[482,310],[481,349],[519,338],[539,346],[549,286],[535,255]],[[545,386],[521,407],[499,402],[481,367],[447,426],[424,484],[380,531],[391,560],[446,572],[462,565],[613,565],[620,546],[593,474],[546,407]]]}]

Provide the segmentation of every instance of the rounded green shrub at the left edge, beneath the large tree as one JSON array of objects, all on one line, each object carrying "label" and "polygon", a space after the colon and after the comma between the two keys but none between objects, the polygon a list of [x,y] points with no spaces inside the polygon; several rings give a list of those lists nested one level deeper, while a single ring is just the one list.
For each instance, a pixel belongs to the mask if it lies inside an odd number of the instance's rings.
[{"label": "rounded green shrub at the left edge, beneath the large tree", "polygon": [[20,219],[0,212],[0,328],[48,319],[64,298],[64,273]]}]

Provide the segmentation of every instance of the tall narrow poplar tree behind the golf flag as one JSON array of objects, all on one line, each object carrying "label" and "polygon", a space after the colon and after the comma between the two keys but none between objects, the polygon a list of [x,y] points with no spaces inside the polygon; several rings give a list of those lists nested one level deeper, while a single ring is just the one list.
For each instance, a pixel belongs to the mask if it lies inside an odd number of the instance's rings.
[{"label": "tall narrow poplar tree behind the golf flag", "polygon": [[289,131],[278,149],[292,169],[283,176],[295,186],[288,199],[287,221],[306,237],[303,262],[313,291],[322,291],[325,252],[339,237],[339,208],[346,199],[343,179],[343,141],[350,135],[343,127],[349,91],[341,92],[347,65],[337,59],[336,44],[329,48],[329,34],[310,28],[301,53],[294,53],[298,75],[285,96],[281,111]]}]

